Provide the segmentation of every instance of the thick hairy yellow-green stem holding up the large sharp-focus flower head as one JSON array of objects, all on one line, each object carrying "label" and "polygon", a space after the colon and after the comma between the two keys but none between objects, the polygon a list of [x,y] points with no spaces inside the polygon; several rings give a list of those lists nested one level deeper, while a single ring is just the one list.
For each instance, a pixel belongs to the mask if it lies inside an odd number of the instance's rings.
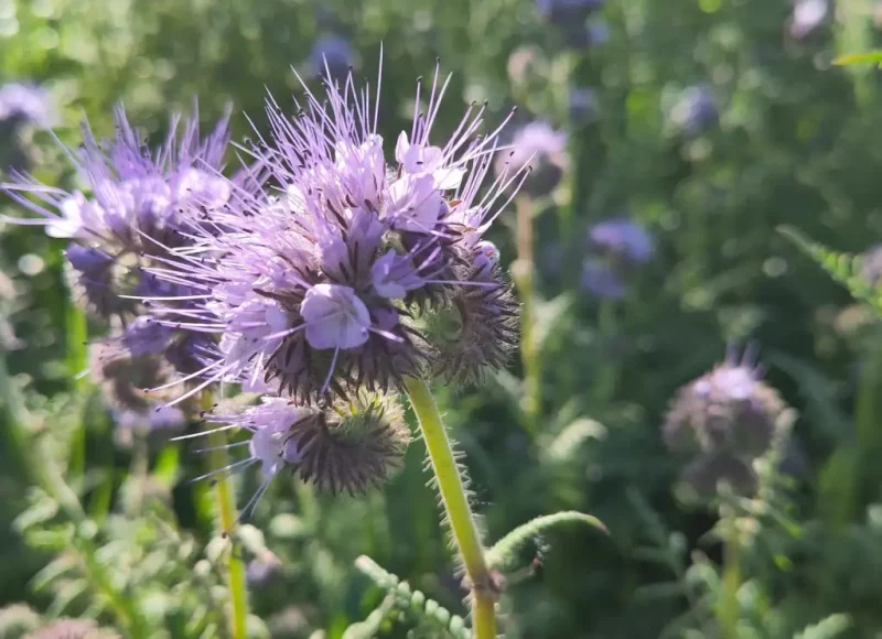
[{"label": "thick hairy yellow-green stem holding up the large sharp-focus flower head", "polygon": [[494,639],[496,637],[495,594],[493,580],[484,548],[477,533],[465,487],[453,457],[444,424],[434,403],[434,398],[426,382],[408,378],[405,380],[410,403],[420,423],[422,437],[429,451],[429,459],[438,480],[438,489],[453,532],[453,539],[460,550],[465,575],[472,587],[472,628],[475,639]]}]

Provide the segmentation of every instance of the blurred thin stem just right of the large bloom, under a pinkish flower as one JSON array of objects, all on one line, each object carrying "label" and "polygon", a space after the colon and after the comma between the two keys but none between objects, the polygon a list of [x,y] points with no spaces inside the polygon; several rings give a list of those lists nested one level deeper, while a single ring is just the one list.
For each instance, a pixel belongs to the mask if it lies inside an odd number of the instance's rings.
[{"label": "blurred thin stem just right of the large bloom, under a pinkish flower", "polygon": [[527,430],[538,429],[542,405],[542,366],[535,333],[533,199],[520,195],[517,208],[517,261],[513,267],[515,285],[520,300],[520,361],[524,367],[524,412]]}]

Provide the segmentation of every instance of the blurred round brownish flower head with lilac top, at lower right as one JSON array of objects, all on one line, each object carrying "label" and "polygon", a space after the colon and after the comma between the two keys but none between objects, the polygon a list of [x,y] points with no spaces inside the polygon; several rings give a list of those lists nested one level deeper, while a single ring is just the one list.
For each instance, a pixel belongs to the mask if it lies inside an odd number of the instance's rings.
[{"label": "blurred round brownish flower head with lilac top, at lower right", "polygon": [[681,388],[662,431],[668,450],[693,457],[692,469],[712,459],[724,459],[727,467],[738,462],[751,468],[790,414],[777,391],[761,378],[762,368],[750,349],[740,360],[730,351],[723,364]]}]

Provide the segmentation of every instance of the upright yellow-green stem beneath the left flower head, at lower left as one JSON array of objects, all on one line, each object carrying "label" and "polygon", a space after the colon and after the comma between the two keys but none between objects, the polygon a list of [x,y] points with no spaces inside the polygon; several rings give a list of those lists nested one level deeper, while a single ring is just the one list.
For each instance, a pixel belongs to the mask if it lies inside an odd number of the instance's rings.
[{"label": "upright yellow-green stem beneath the left flower head, at lower left", "polygon": [[[212,408],[212,393],[202,393],[202,409]],[[208,434],[208,445],[212,451],[212,469],[218,470],[229,466],[226,434],[223,431],[213,431]],[[214,497],[217,505],[217,527],[220,534],[229,534],[238,519],[236,510],[236,496],[233,494],[232,480],[220,473],[214,484]],[[229,636],[232,639],[246,639],[248,628],[248,585],[245,576],[245,564],[235,552],[229,553],[227,562],[227,588],[229,592]]]}]

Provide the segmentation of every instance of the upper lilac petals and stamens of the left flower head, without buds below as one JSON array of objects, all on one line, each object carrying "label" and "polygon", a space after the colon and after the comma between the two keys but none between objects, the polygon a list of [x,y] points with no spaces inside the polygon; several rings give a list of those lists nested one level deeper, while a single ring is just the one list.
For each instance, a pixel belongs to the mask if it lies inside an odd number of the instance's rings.
[{"label": "upper lilac petals and stamens of the left flower head, without buds below", "polygon": [[195,113],[182,133],[180,118],[174,117],[165,142],[155,152],[143,144],[141,132],[129,124],[121,107],[115,119],[112,141],[97,141],[84,126],[84,143],[71,152],[92,197],[18,175],[18,184],[7,185],[7,193],[42,219],[13,221],[43,224],[53,237],[95,242],[108,253],[152,254],[185,241],[181,230],[192,220],[182,213],[184,208],[204,210],[226,204],[229,183],[215,172],[226,151],[227,118],[201,139]]}]

